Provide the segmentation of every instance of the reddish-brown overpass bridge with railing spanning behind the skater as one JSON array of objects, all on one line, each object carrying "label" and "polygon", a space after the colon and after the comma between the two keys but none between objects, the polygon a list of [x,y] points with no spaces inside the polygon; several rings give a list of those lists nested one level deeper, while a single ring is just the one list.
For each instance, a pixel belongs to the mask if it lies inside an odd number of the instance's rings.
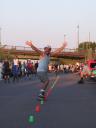
[{"label": "reddish-brown overpass bridge with railing spanning behind the skater", "polygon": [[[43,51],[43,48],[39,48]],[[52,51],[56,50],[53,48]],[[38,60],[39,55],[32,50],[30,47],[24,46],[11,46],[11,45],[2,45],[0,46],[0,51],[3,52],[5,55],[14,57],[15,55],[18,56],[19,59],[32,59]],[[58,56],[52,56],[51,60],[84,60],[85,59],[85,51],[77,51],[76,49],[68,49],[65,48]]]}]

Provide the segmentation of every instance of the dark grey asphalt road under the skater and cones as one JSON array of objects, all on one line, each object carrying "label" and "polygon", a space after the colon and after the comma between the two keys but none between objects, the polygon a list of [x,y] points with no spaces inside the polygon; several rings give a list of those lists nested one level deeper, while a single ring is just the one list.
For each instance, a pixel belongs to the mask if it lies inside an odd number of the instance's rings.
[{"label": "dark grey asphalt road under the skater and cones", "polygon": [[0,82],[0,128],[96,128],[96,83],[78,84],[78,79],[77,74],[50,75],[50,87],[57,81],[43,104],[37,101],[42,84],[35,76]]}]

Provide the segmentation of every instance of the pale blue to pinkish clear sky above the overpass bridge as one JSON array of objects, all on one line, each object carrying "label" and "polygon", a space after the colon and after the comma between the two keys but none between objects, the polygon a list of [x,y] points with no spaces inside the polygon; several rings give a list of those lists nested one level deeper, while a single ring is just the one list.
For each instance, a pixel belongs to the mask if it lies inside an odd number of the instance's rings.
[{"label": "pale blue to pinkish clear sky above the overpass bridge", "polygon": [[[78,26],[79,25],[79,29]],[[96,41],[96,0],[0,0],[2,44],[43,48],[67,42],[67,48]]]}]

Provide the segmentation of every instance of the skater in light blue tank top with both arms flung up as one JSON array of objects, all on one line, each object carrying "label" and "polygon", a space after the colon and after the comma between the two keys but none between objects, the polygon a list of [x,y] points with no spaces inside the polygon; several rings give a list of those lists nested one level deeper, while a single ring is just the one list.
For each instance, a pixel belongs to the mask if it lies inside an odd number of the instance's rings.
[{"label": "skater in light blue tank top with both arms flung up", "polygon": [[27,41],[26,44],[40,55],[37,68],[37,76],[43,83],[43,88],[40,90],[39,94],[39,98],[42,99],[45,96],[45,92],[49,84],[49,78],[47,73],[50,57],[54,55],[59,55],[60,52],[66,47],[66,43],[63,43],[63,45],[60,48],[56,49],[54,52],[51,52],[51,46],[49,45],[44,47],[44,51],[41,51],[33,45],[32,41]]}]

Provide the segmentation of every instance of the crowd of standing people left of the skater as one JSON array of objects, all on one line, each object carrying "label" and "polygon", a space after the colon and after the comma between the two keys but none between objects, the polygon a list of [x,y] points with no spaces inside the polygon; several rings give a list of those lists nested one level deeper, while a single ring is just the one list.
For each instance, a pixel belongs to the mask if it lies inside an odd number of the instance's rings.
[{"label": "crowd of standing people left of the skater", "polygon": [[22,77],[30,77],[30,75],[36,74],[37,67],[38,61],[34,63],[31,60],[21,62],[17,56],[13,61],[5,59],[0,62],[0,79],[5,82],[10,82],[10,79],[12,79],[15,82]]}]

